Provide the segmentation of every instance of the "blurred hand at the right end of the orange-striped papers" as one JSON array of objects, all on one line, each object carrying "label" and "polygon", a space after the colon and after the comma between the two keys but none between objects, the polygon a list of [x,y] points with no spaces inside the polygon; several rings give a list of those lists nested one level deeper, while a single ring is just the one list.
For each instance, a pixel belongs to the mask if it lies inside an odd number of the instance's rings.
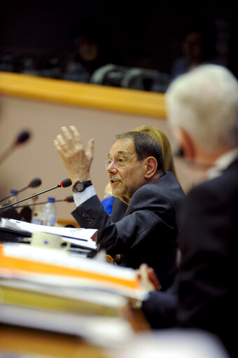
[{"label": "blurred hand at the right end of the orange-striped papers", "polygon": [[143,289],[146,291],[155,291],[155,289],[160,289],[160,282],[158,277],[155,275],[155,271],[153,268],[148,267],[146,263],[142,263],[136,272],[141,280],[141,287]]}]

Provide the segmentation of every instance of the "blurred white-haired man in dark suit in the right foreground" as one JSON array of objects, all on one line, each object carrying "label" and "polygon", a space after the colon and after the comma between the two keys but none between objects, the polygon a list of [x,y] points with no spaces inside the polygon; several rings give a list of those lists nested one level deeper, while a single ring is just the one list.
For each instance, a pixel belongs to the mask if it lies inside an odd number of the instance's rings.
[{"label": "blurred white-haired man in dark suit in the right foreground", "polygon": [[215,333],[237,357],[237,78],[225,67],[202,65],[176,79],[166,101],[188,170],[202,182],[181,210],[175,284],[166,292],[152,291],[143,309],[153,328],[177,325]]}]

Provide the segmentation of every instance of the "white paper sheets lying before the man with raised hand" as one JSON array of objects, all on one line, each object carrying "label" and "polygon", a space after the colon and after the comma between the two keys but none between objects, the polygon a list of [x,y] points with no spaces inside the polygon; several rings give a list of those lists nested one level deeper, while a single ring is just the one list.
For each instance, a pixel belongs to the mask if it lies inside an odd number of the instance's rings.
[{"label": "white paper sheets lying before the man with raised hand", "polygon": [[[97,237],[97,229],[90,228],[62,228],[58,226],[37,225],[36,223],[27,223],[15,219],[1,219],[1,228],[7,228],[18,233],[51,233],[60,235],[66,241],[73,245],[87,247],[88,249],[97,250],[97,244],[94,240]],[[93,239],[93,240],[92,240]]]}]

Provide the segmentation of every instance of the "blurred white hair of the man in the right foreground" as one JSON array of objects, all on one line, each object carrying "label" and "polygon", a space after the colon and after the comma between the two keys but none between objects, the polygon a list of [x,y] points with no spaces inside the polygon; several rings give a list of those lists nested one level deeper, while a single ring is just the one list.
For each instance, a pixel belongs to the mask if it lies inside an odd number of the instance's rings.
[{"label": "blurred white hair of the man in the right foreground", "polygon": [[176,78],[165,94],[173,128],[182,128],[207,151],[238,145],[238,81],[225,67],[202,64]]}]

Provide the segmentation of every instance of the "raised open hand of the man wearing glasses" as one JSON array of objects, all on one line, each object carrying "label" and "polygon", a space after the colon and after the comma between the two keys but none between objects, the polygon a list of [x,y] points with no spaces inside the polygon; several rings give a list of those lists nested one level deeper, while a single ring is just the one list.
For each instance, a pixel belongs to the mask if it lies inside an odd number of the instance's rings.
[{"label": "raised open hand of the man wearing glasses", "polygon": [[93,159],[94,139],[87,143],[84,151],[78,130],[71,125],[69,130],[61,128],[54,145],[73,184],[78,180],[90,180],[90,166]]}]

